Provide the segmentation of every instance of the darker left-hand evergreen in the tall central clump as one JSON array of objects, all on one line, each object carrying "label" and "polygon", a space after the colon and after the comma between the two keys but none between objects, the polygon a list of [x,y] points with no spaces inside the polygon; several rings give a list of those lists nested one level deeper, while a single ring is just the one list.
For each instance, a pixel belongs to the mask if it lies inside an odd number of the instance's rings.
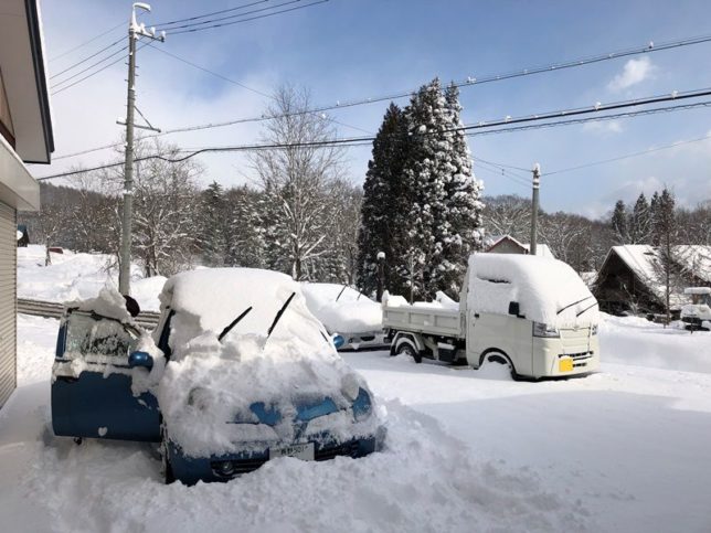
[{"label": "darker left-hand evergreen in the tall central clump", "polygon": [[[403,110],[390,104],[373,141],[372,159],[368,162],[361,225],[358,233],[358,285],[365,294],[378,286],[378,253],[385,253],[384,287],[402,294],[405,280],[400,249],[405,245],[404,218],[411,209],[410,193],[403,186],[407,128]],[[406,267],[405,267],[406,269]]]}]

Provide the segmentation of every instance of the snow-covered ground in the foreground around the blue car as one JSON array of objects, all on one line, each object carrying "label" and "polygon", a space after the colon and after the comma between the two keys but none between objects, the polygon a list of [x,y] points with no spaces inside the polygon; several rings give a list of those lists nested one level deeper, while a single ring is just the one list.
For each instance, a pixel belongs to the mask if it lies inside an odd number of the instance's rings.
[{"label": "snow-covered ground in the foreground around the blue car", "polygon": [[386,451],[188,488],[161,483],[150,445],[53,436],[56,329],[19,316],[6,531],[711,531],[711,333],[607,318],[603,371],[542,383],[347,354],[388,409]]}]

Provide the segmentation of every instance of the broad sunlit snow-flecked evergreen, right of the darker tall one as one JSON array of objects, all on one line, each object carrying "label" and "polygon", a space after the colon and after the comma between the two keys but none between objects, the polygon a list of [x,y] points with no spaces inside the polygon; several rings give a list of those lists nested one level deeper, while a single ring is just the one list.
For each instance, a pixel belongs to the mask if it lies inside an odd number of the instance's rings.
[{"label": "broad sunlit snow-flecked evergreen, right of the darker tall one", "polygon": [[471,175],[471,158],[461,126],[458,92],[435,78],[405,110],[410,147],[404,166],[412,190],[408,249],[415,263],[415,294],[437,290],[457,297],[466,259],[481,243],[481,185]]}]

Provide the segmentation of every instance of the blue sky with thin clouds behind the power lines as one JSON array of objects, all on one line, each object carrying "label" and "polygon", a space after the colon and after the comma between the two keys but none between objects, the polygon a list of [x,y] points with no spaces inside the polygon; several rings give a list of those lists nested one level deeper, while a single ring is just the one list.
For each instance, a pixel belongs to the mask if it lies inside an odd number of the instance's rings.
[{"label": "blue sky with thin clouds behind the power lines", "polygon": [[[272,0],[264,6],[282,3]],[[307,3],[308,0],[301,0]],[[225,9],[246,0],[150,2],[147,25]],[[262,6],[257,6],[256,9]],[[47,56],[127,20],[129,2],[44,0]],[[330,0],[291,13],[194,34],[170,35],[166,51],[263,93],[290,83],[316,105],[414,89],[443,82],[548,65],[627,47],[711,34],[708,1]],[[121,36],[124,28],[64,57],[54,74]],[[711,86],[711,43],[606,61],[590,66],[461,89],[467,124]],[[147,47],[138,54],[138,107],[163,129],[259,115],[267,98]],[[64,75],[66,76],[66,75]],[[118,63],[53,97],[56,152],[116,141],[125,115],[126,67]],[[61,79],[59,76],[56,79]],[[399,100],[406,104],[406,100]],[[388,103],[332,113],[340,122],[376,131]],[[363,131],[338,126],[339,136]],[[255,124],[163,139],[181,147],[258,140]],[[540,162],[543,209],[602,215],[617,198],[634,199],[668,184],[686,204],[711,198],[711,140],[649,156],[554,174],[546,171],[648,150],[711,134],[711,108],[470,138],[475,158],[521,168]],[[370,150],[347,153],[361,183]],[[110,150],[34,167],[36,175],[119,157]],[[244,157],[205,156],[203,182],[252,179]],[[529,194],[528,186],[475,163],[487,194]]]}]

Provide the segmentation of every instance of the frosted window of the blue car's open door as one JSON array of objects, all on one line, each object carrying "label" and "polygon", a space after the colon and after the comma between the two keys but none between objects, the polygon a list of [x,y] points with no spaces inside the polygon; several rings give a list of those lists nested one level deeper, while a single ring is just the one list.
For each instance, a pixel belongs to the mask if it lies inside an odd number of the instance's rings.
[{"label": "frosted window of the blue car's open door", "polygon": [[67,322],[65,352],[128,356],[137,338],[117,320],[75,311]]}]

